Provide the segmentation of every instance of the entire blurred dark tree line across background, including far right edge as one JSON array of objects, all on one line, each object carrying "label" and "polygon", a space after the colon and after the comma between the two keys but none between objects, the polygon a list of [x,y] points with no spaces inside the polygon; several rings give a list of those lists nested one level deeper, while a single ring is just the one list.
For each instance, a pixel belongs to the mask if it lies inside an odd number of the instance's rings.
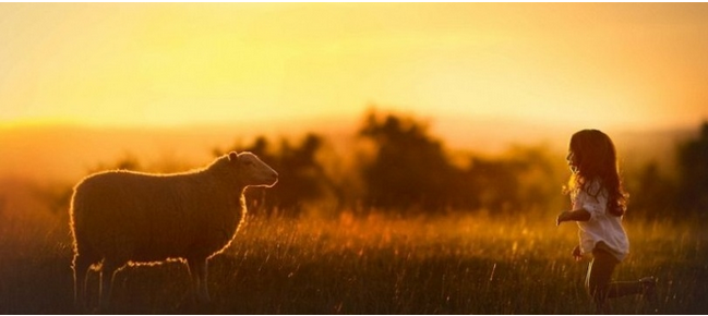
[{"label": "entire blurred dark tree line across background, including far right edge", "polygon": [[[555,214],[569,207],[568,197],[561,194],[567,166],[544,146],[512,146],[505,155],[494,157],[451,153],[430,134],[427,123],[375,110],[365,114],[356,133],[356,145],[345,153],[333,150],[325,136],[310,133],[299,142],[260,136],[251,144],[215,148],[212,154],[252,151],[278,171],[274,187],[247,191],[247,203],[255,212],[487,211],[493,216]],[[631,194],[628,216],[706,217],[708,122],[696,138],[677,144],[675,150],[673,173],[648,162],[623,174]],[[140,170],[141,165],[128,156],[100,169]],[[52,209],[65,210],[70,196],[70,187],[51,194]]]}]

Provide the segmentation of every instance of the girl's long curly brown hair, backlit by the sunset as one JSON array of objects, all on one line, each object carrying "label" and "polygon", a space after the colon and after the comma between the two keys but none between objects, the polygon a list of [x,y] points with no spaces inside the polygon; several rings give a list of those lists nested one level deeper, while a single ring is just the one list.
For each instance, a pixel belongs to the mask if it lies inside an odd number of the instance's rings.
[{"label": "girl's long curly brown hair, backlit by the sunset", "polygon": [[617,154],[610,136],[598,130],[583,130],[571,137],[569,150],[575,167],[568,181],[566,193],[589,190],[593,180],[600,182],[597,192],[588,192],[597,197],[604,187],[608,192],[608,210],[614,216],[626,211],[628,194],[622,186]]}]

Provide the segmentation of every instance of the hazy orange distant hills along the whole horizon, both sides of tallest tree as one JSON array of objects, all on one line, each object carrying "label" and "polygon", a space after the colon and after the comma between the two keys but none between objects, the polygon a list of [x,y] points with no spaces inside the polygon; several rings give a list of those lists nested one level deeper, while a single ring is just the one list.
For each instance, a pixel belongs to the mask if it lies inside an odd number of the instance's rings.
[{"label": "hazy orange distant hills along the whole horizon, both sides of tallest tree", "polygon": [[[353,118],[235,126],[2,127],[0,178],[75,182],[88,170],[125,157],[147,165],[167,161],[191,168],[211,161],[215,148],[227,148],[237,143],[250,145],[259,135],[301,137],[312,131],[333,142],[348,142],[353,138],[359,122],[359,118]],[[575,132],[571,127],[464,118],[430,120],[429,123],[430,133],[444,142],[449,150],[499,154],[511,144],[544,144],[557,153],[559,159],[563,159],[567,141]],[[653,159],[670,165],[675,144],[695,135],[697,126],[672,131],[607,132],[614,138],[625,163],[632,166]]]}]

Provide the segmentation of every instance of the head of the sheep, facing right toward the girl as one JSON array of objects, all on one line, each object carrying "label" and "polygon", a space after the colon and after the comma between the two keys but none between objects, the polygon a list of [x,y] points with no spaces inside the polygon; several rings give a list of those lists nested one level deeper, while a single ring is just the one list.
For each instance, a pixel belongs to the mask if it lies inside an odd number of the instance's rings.
[{"label": "head of the sheep, facing right toward the girl", "polygon": [[247,186],[271,187],[278,182],[278,173],[251,153],[231,151],[228,159],[229,163],[237,168],[241,182]]}]

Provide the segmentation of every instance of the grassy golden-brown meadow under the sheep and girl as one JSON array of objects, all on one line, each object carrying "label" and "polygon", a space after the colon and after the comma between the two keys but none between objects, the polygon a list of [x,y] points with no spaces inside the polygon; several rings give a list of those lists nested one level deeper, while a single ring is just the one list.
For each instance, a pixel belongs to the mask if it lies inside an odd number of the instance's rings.
[{"label": "grassy golden-brown meadow under the sheep and girl", "polygon": [[[0,313],[73,308],[67,215],[32,194],[0,199]],[[23,195],[24,194],[24,195]],[[11,196],[11,197],[9,197]],[[33,203],[33,200],[35,200]],[[195,306],[185,265],[130,267],[116,277],[118,314],[592,314],[588,259],[573,260],[574,224],[553,215],[479,212],[403,218],[376,211],[298,218],[250,214],[209,265],[211,306]],[[708,233],[698,223],[628,217],[633,253],[619,280],[656,276],[659,300],[613,301],[617,314],[708,312]],[[97,290],[97,274],[89,282]]]}]

